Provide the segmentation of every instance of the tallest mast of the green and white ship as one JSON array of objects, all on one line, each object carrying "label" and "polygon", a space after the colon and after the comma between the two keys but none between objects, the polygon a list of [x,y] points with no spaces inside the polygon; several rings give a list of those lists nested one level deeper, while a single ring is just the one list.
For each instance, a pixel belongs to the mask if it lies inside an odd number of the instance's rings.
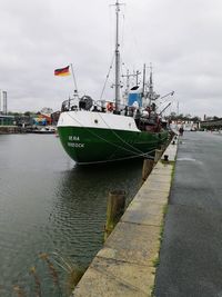
[{"label": "tallest mast of the green and white ship", "polygon": [[119,111],[120,106],[120,43],[119,43],[119,0],[115,2],[115,16],[117,16],[117,31],[115,31],[115,110]]}]

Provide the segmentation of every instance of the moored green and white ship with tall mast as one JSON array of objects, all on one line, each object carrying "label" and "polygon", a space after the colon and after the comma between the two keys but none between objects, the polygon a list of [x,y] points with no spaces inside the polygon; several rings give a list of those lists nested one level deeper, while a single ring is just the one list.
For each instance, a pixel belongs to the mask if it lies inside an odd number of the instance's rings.
[{"label": "moored green and white ship with tall mast", "polygon": [[[119,0],[115,2],[115,100],[93,101],[90,97],[73,99],[62,103],[58,121],[58,133],[67,154],[78,164],[119,161],[130,158],[148,158],[169,139],[157,113],[152,71],[148,90],[145,75],[143,88],[132,88],[128,102],[120,102],[120,51],[119,51]],[[145,73],[145,68],[143,73]]]}]

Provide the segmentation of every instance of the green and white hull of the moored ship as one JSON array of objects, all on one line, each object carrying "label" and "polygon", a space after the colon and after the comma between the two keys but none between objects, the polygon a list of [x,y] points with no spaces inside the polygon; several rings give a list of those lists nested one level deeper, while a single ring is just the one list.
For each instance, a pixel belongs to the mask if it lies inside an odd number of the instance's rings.
[{"label": "green and white hull of the moored ship", "polygon": [[[61,115],[58,122],[61,143],[67,154],[78,164],[153,156],[154,150],[169,138],[165,130],[140,131],[134,120],[129,117],[80,112],[64,112],[67,115]],[[121,125],[119,125],[120,120]],[[119,128],[120,126],[122,127]]]}]

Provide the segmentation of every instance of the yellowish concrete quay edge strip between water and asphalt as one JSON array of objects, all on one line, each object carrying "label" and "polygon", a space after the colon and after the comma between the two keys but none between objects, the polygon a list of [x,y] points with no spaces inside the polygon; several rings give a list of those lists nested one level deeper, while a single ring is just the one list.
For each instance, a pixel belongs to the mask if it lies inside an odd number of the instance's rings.
[{"label": "yellowish concrete quay edge strip between water and asphalt", "polygon": [[72,297],[152,295],[176,148],[175,140],[164,151],[169,161],[155,165]]}]

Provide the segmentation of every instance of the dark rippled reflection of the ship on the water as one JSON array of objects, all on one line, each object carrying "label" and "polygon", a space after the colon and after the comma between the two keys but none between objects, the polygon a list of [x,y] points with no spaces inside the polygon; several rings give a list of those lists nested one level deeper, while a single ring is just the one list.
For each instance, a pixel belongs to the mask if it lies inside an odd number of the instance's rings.
[{"label": "dark rippled reflection of the ship on the water", "polygon": [[50,214],[49,230],[54,245],[75,261],[88,265],[103,244],[109,191],[124,189],[129,202],[138,190],[140,174],[140,161],[97,167],[75,165],[64,171]]}]

